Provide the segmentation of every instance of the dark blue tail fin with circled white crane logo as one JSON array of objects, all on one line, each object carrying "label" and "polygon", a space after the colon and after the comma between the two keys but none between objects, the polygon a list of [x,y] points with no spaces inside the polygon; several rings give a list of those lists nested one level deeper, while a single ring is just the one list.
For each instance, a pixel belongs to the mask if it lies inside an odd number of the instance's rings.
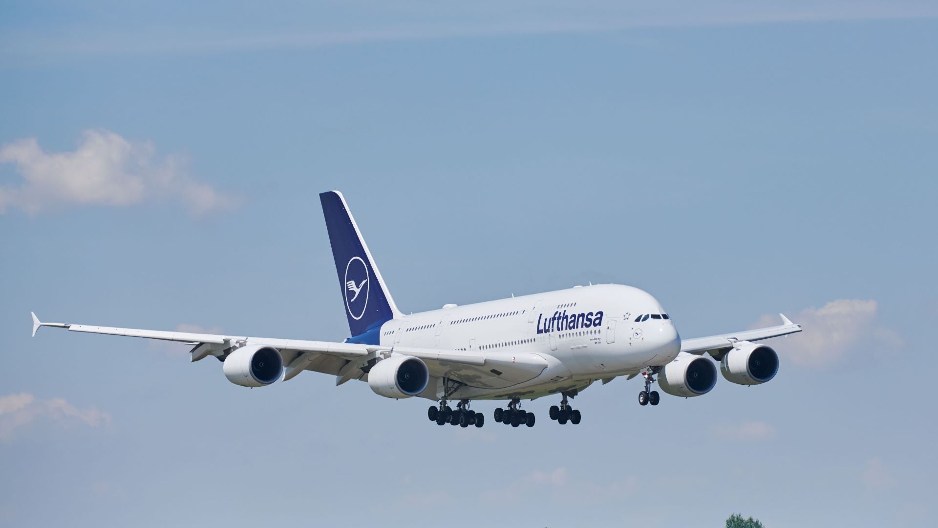
[{"label": "dark blue tail fin with circled white crane logo", "polygon": [[[325,228],[329,231],[332,256],[339,272],[339,287],[349,318],[352,340],[356,336],[375,333],[382,323],[401,314],[387,292],[385,280],[374,265],[368,245],[358,231],[358,225],[339,191],[319,195],[323,203]],[[375,344],[377,341],[375,341]]]}]

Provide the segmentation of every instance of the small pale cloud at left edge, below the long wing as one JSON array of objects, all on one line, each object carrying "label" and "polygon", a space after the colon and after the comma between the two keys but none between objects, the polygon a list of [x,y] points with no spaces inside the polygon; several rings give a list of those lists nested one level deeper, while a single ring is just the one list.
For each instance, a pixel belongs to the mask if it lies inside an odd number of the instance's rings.
[{"label": "small pale cloud at left edge, below the long wing", "polygon": [[83,424],[101,427],[111,423],[111,415],[94,407],[81,409],[63,398],[37,400],[26,393],[0,396],[0,440],[10,440],[20,428],[43,418],[61,426]]}]

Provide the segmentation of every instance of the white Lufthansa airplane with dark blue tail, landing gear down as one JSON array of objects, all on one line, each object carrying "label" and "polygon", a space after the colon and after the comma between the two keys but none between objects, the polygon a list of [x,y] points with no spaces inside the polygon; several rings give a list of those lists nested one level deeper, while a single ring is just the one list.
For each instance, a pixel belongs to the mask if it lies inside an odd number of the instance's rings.
[{"label": "white Lufthansa airplane with dark blue tail, landing gear down", "polygon": [[[351,337],[343,342],[245,335],[190,334],[41,322],[71,332],[127,335],[187,343],[191,361],[214,356],[228,380],[261,387],[312,370],[336,384],[362,380],[375,394],[419,396],[436,402],[427,416],[437,425],[482,427],[472,400],[507,400],[495,422],[534,427],[522,400],[560,396],[550,409],[559,424],[579,424],[569,398],[601,380],[642,376],[640,405],[658,405],[657,381],[673,396],[703,396],[723,378],[741,385],[772,380],[779,355],[756,341],[801,332],[782,324],[734,334],[681,339],[654,297],[637,287],[590,285],[488,303],[404,315],[371,257],[345,198],[319,195]],[[450,406],[453,403],[454,406]]]}]

